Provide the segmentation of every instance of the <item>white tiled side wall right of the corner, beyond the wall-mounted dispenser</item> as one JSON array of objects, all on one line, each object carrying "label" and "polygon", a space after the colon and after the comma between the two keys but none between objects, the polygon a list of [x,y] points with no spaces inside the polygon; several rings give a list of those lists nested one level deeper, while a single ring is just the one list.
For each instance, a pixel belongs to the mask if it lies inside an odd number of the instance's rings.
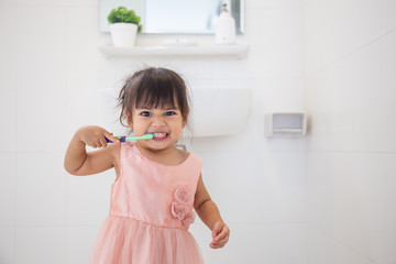
[{"label": "white tiled side wall right of the corner, beyond the wall-mounted dispenser", "polygon": [[396,263],[396,1],[305,1],[308,263]]}]

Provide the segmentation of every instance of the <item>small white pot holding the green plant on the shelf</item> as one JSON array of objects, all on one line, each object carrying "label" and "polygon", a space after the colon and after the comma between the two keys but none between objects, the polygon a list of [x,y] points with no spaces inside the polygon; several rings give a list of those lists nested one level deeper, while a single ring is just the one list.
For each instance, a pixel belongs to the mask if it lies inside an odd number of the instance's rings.
[{"label": "small white pot holding the green plant on the shelf", "polygon": [[134,46],[138,25],[132,23],[110,24],[110,34],[114,46]]}]

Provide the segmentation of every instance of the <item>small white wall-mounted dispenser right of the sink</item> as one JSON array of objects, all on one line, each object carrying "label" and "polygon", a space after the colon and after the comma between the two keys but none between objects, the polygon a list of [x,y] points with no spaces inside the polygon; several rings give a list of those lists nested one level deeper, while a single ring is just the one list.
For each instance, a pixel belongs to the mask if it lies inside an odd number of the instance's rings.
[{"label": "small white wall-mounted dispenser right of the sink", "polygon": [[265,135],[304,136],[307,131],[307,114],[304,112],[272,112],[265,114]]}]

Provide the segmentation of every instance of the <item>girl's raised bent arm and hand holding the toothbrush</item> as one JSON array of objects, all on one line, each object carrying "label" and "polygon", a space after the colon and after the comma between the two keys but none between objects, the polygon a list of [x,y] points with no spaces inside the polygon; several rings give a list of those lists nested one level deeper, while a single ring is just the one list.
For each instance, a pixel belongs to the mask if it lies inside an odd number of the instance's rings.
[{"label": "girl's raised bent arm and hand holding the toothbrush", "polygon": [[[106,138],[119,142],[111,133],[99,127],[89,125],[77,130],[66,151],[65,169],[69,174],[82,176],[113,167],[120,144],[106,147],[108,145]],[[87,153],[86,145],[103,148]]]}]

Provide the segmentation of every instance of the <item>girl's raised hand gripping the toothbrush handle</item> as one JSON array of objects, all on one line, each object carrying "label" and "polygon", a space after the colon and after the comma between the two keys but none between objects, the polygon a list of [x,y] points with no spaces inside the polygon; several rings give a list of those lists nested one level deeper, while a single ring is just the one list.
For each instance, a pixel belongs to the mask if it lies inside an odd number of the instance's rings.
[{"label": "girl's raised hand gripping the toothbrush handle", "polygon": [[82,141],[86,145],[89,145],[91,147],[107,146],[108,142],[106,139],[109,139],[114,143],[120,142],[113,136],[112,133],[97,125],[84,127],[79,129],[77,133],[79,135],[80,141]]}]

